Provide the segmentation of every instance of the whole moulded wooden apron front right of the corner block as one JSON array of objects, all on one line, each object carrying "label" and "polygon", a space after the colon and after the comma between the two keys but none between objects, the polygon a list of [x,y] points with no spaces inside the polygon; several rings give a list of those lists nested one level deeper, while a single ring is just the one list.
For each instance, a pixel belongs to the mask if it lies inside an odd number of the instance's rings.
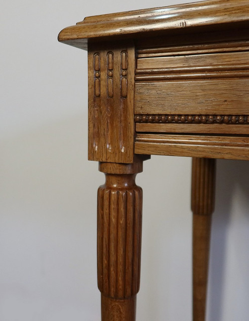
[{"label": "whole moulded wooden apron front right of the corner block", "polygon": [[138,49],[135,153],[249,160],[248,45]]}]

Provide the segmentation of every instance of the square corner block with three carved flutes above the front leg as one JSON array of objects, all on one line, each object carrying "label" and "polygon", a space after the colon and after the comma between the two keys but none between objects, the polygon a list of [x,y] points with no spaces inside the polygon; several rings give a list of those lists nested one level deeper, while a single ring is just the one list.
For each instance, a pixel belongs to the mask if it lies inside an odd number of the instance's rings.
[{"label": "square corner block with three carved flutes above the front leg", "polygon": [[133,161],[134,64],[132,43],[89,44],[89,160]]}]

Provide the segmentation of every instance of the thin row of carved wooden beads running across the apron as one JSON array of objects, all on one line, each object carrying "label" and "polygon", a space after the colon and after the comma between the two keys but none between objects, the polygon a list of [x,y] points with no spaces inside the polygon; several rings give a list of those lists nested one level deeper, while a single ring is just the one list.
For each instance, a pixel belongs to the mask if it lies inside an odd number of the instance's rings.
[{"label": "thin row of carved wooden beads running across the apron", "polygon": [[135,115],[135,123],[239,124],[248,125],[248,115]]}]

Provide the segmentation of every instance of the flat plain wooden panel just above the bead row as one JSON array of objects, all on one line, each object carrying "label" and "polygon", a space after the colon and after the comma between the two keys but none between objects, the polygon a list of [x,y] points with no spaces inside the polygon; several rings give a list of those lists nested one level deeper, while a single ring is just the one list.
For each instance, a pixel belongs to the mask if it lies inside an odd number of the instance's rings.
[{"label": "flat plain wooden panel just above the bead row", "polygon": [[248,110],[249,79],[135,84],[135,114],[244,115]]}]

